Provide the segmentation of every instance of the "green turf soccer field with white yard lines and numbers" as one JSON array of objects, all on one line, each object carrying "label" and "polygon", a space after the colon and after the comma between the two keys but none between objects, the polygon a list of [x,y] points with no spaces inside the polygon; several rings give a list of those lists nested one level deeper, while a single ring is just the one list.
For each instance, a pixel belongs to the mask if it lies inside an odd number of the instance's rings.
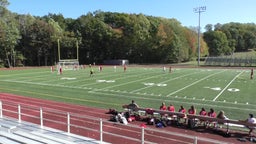
[{"label": "green turf soccer field with white yard lines and numbers", "polygon": [[172,68],[163,72],[161,66],[93,66],[51,73],[50,68],[0,70],[0,92],[75,103],[99,108],[121,110],[123,104],[135,100],[145,108],[158,109],[162,102],[188,109],[195,105],[216,113],[224,110],[231,119],[246,119],[256,114],[256,83],[250,69]]}]

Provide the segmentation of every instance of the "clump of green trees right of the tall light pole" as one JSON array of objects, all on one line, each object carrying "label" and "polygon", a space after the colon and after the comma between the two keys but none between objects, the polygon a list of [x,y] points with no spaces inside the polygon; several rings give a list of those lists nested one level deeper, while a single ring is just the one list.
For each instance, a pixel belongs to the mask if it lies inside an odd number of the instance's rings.
[{"label": "clump of green trees right of the tall light pole", "polygon": [[204,40],[211,56],[232,55],[256,48],[256,25],[253,23],[208,24]]}]

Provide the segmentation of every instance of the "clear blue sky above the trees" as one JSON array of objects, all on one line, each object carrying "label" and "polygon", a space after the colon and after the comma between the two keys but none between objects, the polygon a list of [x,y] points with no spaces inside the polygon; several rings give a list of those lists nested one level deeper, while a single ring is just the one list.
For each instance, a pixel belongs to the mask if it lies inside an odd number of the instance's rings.
[{"label": "clear blue sky above the trees", "polygon": [[79,18],[88,12],[120,12],[175,18],[183,26],[198,27],[199,13],[194,8],[205,6],[200,26],[230,22],[256,23],[256,0],[8,0],[10,11],[18,14],[44,16],[62,14]]}]

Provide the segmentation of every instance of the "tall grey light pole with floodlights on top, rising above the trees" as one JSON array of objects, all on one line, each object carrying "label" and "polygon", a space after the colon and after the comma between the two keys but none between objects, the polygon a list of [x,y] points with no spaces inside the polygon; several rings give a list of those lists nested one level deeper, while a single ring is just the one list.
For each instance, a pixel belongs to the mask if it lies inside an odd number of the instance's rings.
[{"label": "tall grey light pole with floodlights on top, rising above the trees", "polygon": [[197,65],[200,66],[200,15],[202,12],[206,11],[206,6],[200,6],[194,8],[194,12],[198,13],[198,31],[197,31],[197,40],[198,40],[198,62]]}]

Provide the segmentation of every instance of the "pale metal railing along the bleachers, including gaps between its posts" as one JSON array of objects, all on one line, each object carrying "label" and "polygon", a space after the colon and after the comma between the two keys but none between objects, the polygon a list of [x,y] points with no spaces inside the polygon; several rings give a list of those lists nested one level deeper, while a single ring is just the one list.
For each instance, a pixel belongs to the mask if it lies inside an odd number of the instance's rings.
[{"label": "pale metal railing along the bleachers, including gaps between its posts", "polygon": [[[43,127],[51,127],[66,131],[67,133],[78,134],[100,140],[101,142],[115,142],[115,138],[129,143],[161,143],[164,140],[173,141],[180,139],[183,143],[223,143],[221,141],[190,136],[170,131],[159,131],[156,129],[143,128],[135,125],[123,125],[119,123],[102,120],[91,116],[81,116],[79,114],[67,113],[50,108],[38,108],[26,104],[17,104],[11,101],[0,101],[0,117],[11,117],[19,122],[26,121],[38,124]],[[128,134],[127,134],[128,131]],[[146,131],[146,132],[145,132]],[[156,135],[158,134],[158,135]],[[158,141],[152,140],[154,137]],[[174,138],[173,138],[174,137]],[[173,142],[175,143],[175,142]]]}]

